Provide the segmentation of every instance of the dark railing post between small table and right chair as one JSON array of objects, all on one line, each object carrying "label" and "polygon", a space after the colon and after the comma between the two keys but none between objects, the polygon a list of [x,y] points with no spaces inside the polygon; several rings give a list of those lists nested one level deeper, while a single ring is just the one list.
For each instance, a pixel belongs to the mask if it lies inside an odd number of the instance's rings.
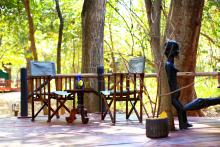
[{"label": "dark railing post between small table and right chair", "polygon": [[102,98],[101,98],[101,94],[100,94],[100,92],[102,91],[102,90],[105,90],[105,83],[104,83],[104,76],[103,76],[103,74],[104,74],[104,66],[98,66],[97,67],[97,74],[98,74],[98,94],[99,94],[99,112],[101,112],[101,110],[102,111],[105,111],[105,106],[104,106],[104,102],[103,102],[103,100],[102,100]]}]

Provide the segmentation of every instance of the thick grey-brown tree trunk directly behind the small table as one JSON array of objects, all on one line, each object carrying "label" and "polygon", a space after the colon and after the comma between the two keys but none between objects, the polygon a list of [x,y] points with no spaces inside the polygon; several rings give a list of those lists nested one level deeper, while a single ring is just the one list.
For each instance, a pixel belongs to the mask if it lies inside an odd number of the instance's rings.
[{"label": "thick grey-brown tree trunk directly behind the small table", "polygon": [[[103,38],[106,0],[84,0],[82,10],[82,72],[96,73],[103,65]],[[97,80],[85,81],[85,86],[96,87]],[[100,101],[92,94],[85,95],[89,112],[100,111]]]}]

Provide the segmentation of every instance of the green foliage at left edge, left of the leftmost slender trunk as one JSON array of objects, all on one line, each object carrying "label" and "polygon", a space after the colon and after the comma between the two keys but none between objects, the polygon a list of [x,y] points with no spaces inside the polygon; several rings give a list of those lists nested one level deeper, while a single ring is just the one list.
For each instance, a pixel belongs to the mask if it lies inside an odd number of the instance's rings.
[{"label": "green foliage at left edge, left of the leftmost slender trunk", "polygon": [[27,46],[26,24],[20,21],[21,7],[20,1],[0,2],[0,62],[10,62],[15,68],[24,63],[24,47]]}]

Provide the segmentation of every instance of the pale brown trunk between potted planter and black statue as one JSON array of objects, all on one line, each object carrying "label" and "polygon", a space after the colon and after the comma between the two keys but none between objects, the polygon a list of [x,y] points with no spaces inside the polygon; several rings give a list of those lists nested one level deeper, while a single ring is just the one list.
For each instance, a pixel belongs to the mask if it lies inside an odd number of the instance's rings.
[{"label": "pale brown trunk between potted planter and black statue", "polygon": [[160,19],[161,19],[161,3],[162,0],[145,0],[148,24],[150,27],[150,45],[154,55],[154,62],[157,69],[158,80],[158,113],[166,111],[169,119],[169,129],[174,130],[174,119],[172,114],[171,99],[169,95],[169,87],[167,82],[166,71],[164,68],[163,52],[160,46]]}]

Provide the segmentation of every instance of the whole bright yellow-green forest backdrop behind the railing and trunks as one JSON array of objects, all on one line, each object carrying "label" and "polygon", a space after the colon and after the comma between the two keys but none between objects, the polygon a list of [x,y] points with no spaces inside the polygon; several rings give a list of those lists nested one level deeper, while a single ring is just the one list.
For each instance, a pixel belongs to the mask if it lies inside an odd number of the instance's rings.
[{"label": "whole bright yellow-green forest backdrop behind the railing and trunks", "polygon": [[[27,14],[29,2],[30,16]],[[151,49],[150,26],[146,13],[146,1],[108,0],[104,24],[104,67],[105,72],[126,72],[123,60],[136,56],[146,57],[145,73],[157,72]],[[165,34],[170,0],[163,0],[161,9],[161,34]],[[26,5],[25,5],[26,4]],[[82,72],[82,19],[83,0],[4,0],[0,2],[0,63],[10,65],[12,79],[19,79],[19,70],[27,61],[34,59],[30,31],[31,17],[38,61],[53,61],[58,73]],[[59,6],[59,7],[58,7]],[[220,70],[220,2],[207,0],[202,12],[201,31],[196,56],[197,72]],[[59,13],[60,10],[60,13]],[[60,23],[63,26],[60,26]],[[59,30],[62,28],[62,43]],[[33,37],[33,36],[32,36]],[[163,44],[163,43],[161,43]],[[57,51],[60,48],[60,59]],[[115,69],[114,69],[115,68]],[[198,81],[198,82],[197,82]],[[196,78],[198,97],[219,95],[212,78]],[[155,80],[148,81],[148,91],[156,93]]]}]

